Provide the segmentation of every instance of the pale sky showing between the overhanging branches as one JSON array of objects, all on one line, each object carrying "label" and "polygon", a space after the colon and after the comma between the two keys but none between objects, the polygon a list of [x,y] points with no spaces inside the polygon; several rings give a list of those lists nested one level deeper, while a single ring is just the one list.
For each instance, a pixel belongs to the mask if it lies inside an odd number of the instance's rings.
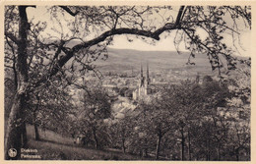
[{"label": "pale sky showing between the overhanging branches", "polygon": [[[28,18],[29,20],[33,19],[33,22],[36,23],[37,21],[47,22],[47,28],[45,29],[45,33],[49,33],[51,36],[60,37],[59,33],[53,31],[52,28],[58,28],[58,24],[51,20],[50,13],[47,12],[44,6],[37,6],[34,8],[28,8]],[[65,19],[67,20],[74,20],[73,17],[70,15],[65,15]],[[68,31],[68,28],[63,26],[64,31]],[[171,32],[167,34],[166,32],[160,35],[160,41],[155,41],[154,44],[149,44],[143,41],[142,39],[136,38],[132,35],[115,35],[112,45],[109,47],[111,48],[118,48],[118,49],[135,49],[135,50],[143,50],[143,51],[175,51],[176,48],[173,44],[173,38],[175,36],[175,32]],[[236,50],[239,52],[236,55],[240,56],[250,56],[250,30],[242,31],[240,41],[238,39],[234,41]],[[204,37],[204,34],[202,34]],[[132,39],[133,41],[128,41],[128,39]],[[150,39],[151,40],[151,39]],[[227,45],[232,45],[232,37],[231,35],[224,35],[224,41]],[[152,41],[149,41],[152,42]],[[185,51],[184,44],[180,44],[179,46],[180,51]]]}]

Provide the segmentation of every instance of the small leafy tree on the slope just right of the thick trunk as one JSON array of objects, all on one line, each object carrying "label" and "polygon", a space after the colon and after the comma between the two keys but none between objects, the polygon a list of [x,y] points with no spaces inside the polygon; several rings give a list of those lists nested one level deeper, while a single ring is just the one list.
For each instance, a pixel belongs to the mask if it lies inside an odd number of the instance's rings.
[{"label": "small leafy tree on the slope just right of the thick trunk", "polygon": [[36,140],[39,139],[38,127],[59,134],[68,133],[66,123],[74,112],[69,90],[67,83],[52,79],[48,86],[36,89],[29,95],[26,120],[30,120],[34,127]]}]

